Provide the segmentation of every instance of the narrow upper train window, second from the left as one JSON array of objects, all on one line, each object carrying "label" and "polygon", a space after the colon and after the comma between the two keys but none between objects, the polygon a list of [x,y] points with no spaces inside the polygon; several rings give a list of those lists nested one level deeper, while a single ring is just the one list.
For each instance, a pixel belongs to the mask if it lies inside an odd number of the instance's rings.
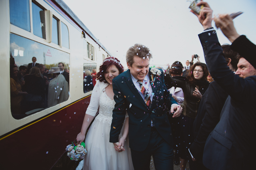
[{"label": "narrow upper train window, second from the left", "polygon": [[32,2],[33,34],[46,39],[44,9]]}]

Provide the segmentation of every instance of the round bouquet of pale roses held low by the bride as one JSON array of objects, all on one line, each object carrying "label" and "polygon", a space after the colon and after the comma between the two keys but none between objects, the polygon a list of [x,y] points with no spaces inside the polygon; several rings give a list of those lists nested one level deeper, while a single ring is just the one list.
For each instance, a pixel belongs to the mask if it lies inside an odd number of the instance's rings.
[{"label": "round bouquet of pale roses held low by the bride", "polygon": [[84,156],[87,154],[87,150],[86,150],[84,142],[82,142],[80,145],[77,143],[74,144],[72,142],[72,144],[69,144],[66,147],[66,151],[68,152],[67,156],[72,161],[82,160],[82,159],[84,159]]}]

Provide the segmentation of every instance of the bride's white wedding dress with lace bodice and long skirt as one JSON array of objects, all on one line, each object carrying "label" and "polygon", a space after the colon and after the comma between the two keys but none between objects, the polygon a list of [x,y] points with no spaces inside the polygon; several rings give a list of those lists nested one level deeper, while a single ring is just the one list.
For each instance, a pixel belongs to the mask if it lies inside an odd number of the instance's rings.
[{"label": "bride's white wedding dress with lace bodice and long skirt", "polygon": [[[95,116],[99,107],[99,114],[85,139],[88,153],[84,157],[83,170],[133,170],[129,141],[126,140],[125,151],[120,153],[115,150],[113,143],[109,142],[112,111],[116,102],[107,96],[105,92],[107,85],[97,81],[86,111],[86,114]],[[122,132],[119,139],[121,136]]]}]

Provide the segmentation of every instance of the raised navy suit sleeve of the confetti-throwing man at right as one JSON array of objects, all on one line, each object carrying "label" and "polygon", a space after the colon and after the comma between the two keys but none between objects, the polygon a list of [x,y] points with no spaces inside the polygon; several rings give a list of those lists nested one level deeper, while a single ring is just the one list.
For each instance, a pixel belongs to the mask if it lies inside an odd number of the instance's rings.
[{"label": "raised navy suit sleeve of the confetti-throwing man at right", "polygon": [[[240,78],[229,69],[224,58],[216,31],[207,31],[199,34],[203,47],[205,61],[213,79],[230,95],[232,100],[245,103],[245,98],[255,99],[249,91],[255,90],[254,78]],[[241,49],[241,47],[239,47]],[[237,51],[239,51],[237,49]],[[250,83],[249,83],[250,82]],[[248,96],[250,95],[250,96]]]}]

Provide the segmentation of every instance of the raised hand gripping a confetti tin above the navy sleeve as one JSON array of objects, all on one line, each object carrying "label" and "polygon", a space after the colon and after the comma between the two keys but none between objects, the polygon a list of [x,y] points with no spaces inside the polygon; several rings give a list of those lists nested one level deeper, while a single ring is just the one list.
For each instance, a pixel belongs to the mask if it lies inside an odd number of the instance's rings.
[{"label": "raised hand gripping a confetti tin above the navy sleeve", "polygon": [[202,24],[203,29],[212,27],[212,9],[208,5],[208,3],[201,1],[197,5],[204,6],[203,9],[201,10],[200,14],[197,14],[193,10],[190,10],[190,11],[198,17],[198,20]]}]

